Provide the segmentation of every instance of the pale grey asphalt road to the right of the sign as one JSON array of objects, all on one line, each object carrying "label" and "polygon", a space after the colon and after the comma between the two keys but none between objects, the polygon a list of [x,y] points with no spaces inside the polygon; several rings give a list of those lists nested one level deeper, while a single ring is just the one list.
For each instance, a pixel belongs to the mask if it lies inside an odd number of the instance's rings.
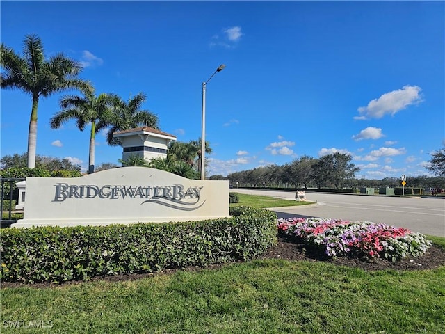
[{"label": "pale grey asphalt road to the right of the sign", "polygon": [[[293,200],[294,191],[230,189],[238,193],[273,196]],[[306,193],[306,199],[316,205],[277,207],[278,218],[321,217],[348,221],[373,221],[403,228],[412,232],[445,237],[445,199],[391,196]]]}]

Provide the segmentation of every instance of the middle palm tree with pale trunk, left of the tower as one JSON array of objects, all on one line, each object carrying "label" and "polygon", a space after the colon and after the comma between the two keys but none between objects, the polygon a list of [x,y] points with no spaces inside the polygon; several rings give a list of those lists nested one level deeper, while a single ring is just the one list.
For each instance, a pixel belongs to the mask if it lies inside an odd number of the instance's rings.
[{"label": "middle palm tree with pale trunk, left of the tower", "polygon": [[83,96],[64,95],[60,101],[60,108],[49,121],[51,128],[57,129],[70,119],[77,120],[77,127],[83,131],[87,124],[91,125],[90,155],[88,158],[88,173],[95,171],[95,134],[108,125],[108,117],[111,113],[113,102],[117,95],[102,93],[95,95],[95,89],[90,87],[83,90]]}]

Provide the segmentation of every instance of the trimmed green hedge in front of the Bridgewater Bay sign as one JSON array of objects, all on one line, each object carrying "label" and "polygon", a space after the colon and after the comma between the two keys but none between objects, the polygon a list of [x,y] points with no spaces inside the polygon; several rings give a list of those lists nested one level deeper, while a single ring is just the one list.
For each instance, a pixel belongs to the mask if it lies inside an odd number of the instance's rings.
[{"label": "trimmed green hedge in front of the Bridgewater Bay sign", "polygon": [[276,214],[236,207],[185,223],[0,230],[0,280],[60,283],[118,273],[245,261],[277,243]]}]

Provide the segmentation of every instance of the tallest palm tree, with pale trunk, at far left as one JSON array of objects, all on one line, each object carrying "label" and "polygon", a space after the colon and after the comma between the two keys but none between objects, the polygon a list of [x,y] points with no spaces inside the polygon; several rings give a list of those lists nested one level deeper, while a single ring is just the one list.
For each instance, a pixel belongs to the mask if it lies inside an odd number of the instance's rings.
[{"label": "tallest palm tree, with pale trunk, at far left", "polygon": [[28,167],[35,167],[35,148],[37,145],[37,113],[40,97],[72,88],[86,88],[88,82],[79,79],[80,63],[57,54],[44,57],[42,40],[37,35],[26,35],[23,56],[1,44],[0,74],[1,88],[18,88],[31,95],[32,109],[28,132]]}]

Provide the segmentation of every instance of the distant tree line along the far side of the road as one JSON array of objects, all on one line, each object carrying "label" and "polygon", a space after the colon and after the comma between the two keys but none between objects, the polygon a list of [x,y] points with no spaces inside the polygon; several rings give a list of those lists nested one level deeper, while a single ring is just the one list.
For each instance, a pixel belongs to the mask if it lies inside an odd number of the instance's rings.
[{"label": "distant tree line along the far side of the road", "polygon": [[[439,150],[432,154],[427,168],[437,176],[408,176],[407,186],[416,188],[444,188],[444,152]],[[401,186],[400,177],[385,177],[382,180],[357,178],[359,168],[350,163],[350,154],[336,152],[315,159],[309,156],[300,157],[282,166],[270,165],[251,170],[231,173],[227,177],[212,175],[210,180],[229,180],[232,187],[285,187],[302,188],[362,188],[362,187],[397,187]],[[439,160],[439,161],[438,161]],[[442,166],[442,167],[441,167]]]}]

